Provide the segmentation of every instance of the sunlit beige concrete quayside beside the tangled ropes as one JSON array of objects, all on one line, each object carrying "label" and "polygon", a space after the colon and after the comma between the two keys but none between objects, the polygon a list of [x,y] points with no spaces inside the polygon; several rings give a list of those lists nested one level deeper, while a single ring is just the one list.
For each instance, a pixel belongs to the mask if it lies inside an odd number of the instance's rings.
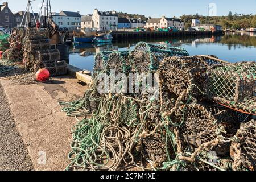
[{"label": "sunlit beige concrete quayside beside the tangled ropes", "polygon": [[[53,80],[39,85],[11,85],[10,81],[0,79],[15,121],[14,123],[11,113],[8,114],[8,109],[3,109],[7,113],[6,125],[10,125],[6,129],[10,130],[12,125],[21,136],[19,137],[18,133],[13,135],[19,140],[13,140],[8,147],[14,148],[21,144],[21,147],[17,148],[23,151],[21,160],[25,170],[32,167],[34,170],[63,170],[69,163],[67,155],[72,139],[71,128],[76,124],[76,120],[61,112],[58,102],[73,101],[81,97],[86,86],[80,85],[71,77],[58,77]],[[8,123],[9,120],[13,123]],[[2,125],[0,125],[1,130],[3,130]],[[0,166],[5,165],[1,163],[1,155],[7,151],[10,150],[1,147]],[[25,153],[27,151],[27,155],[23,154],[24,151]],[[10,156],[19,158],[19,152],[18,154],[10,152]]]}]

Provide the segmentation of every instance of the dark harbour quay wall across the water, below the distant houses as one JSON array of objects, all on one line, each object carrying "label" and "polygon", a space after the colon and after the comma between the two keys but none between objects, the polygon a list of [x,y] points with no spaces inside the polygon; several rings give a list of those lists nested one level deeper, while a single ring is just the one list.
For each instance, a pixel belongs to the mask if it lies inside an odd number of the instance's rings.
[{"label": "dark harbour quay wall across the water, below the distant houses", "polygon": [[161,38],[161,37],[185,37],[185,36],[209,36],[209,35],[220,35],[223,32],[212,32],[212,31],[179,31],[179,32],[135,32],[135,31],[113,31],[112,36],[114,40],[118,39],[134,39],[134,38]]}]

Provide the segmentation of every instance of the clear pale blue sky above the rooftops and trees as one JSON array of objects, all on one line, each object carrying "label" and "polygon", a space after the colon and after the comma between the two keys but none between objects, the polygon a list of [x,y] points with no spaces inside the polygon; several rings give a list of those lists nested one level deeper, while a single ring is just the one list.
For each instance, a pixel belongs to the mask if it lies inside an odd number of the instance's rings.
[{"label": "clear pale blue sky above the rooftops and trees", "polygon": [[[8,0],[7,0],[8,1]],[[3,1],[1,1],[2,3]],[[27,0],[9,0],[9,7],[14,13],[24,11]],[[32,2],[38,12],[42,0]],[[92,14],[94,8],[100,11],[123,11],[144,14],[147,17],[181,16],[183,14],[207,15],[207,5],[216,3],[217,15],[228,15],[229,11],[244,14],[256,14],[256,0],[52,0],[52,11],[80,11],[80,14]]]}]

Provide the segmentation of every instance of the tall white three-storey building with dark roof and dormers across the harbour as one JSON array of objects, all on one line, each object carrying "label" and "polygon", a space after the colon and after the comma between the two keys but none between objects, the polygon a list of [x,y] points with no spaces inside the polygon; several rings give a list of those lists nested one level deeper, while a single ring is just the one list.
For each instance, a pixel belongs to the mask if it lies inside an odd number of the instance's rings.
[{"label": "tall white three-storey building with dark roof and dormers across the harbour", "polygon": [[[83,22],[82,22],[83,24]],[[98,11],[94,9],[92,15],[92,22],[89,23],[91,27],[101,30],[117,30],[118,28],[118,15],[116,11]]]}]

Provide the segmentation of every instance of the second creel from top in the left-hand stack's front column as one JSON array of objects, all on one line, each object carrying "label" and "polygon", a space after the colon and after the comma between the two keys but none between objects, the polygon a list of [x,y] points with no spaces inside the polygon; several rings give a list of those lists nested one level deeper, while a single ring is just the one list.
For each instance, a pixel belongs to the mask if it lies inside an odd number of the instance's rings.
[{"label": "second creel from top in the left-hand stack's front column", "polygon": [[40,39],[40,40],[28,40],[27,39],[24,41],[23,44],[24,44],[24,51],[26,51],[26,52],[34,52],[34,51],[50,49],[48,39]]}]

